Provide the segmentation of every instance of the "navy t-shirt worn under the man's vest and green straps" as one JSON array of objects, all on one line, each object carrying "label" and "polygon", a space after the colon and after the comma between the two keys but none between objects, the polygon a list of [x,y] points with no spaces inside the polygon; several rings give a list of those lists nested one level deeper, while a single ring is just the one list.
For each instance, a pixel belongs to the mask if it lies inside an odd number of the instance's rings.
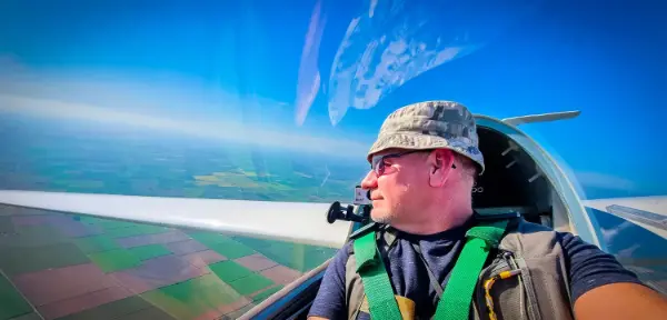
[{"label": "navy t-shirt worn under the man's vest and green straps", "polygon": [[[398,231],[396,243],[389,249],[387,272],[396,294],[415,301],[416,319],[429,319],[436,311],[438,296],[430,284],[428,271],[412,243],[419,243],[428,268],[445,284],[456,259],[464,246],[464,236],[468,226],[447,230],[436,234],[418,236]],[[641,283],[635,273],[623,268],[614,258],[597,247],[584,242],[579,237],[559,232],[565,258],[569,262],[569,279],[573,303],[581,294],[594,288],[614,282]],[[310,308],[309,316],[328,319],[347,319],[345,273],[351,241],[347,242],[329,263],[319,292]],[[426,290],[428,288],[428,290]],[[357,319],[369,319],[366,312],[359,312]]]}]

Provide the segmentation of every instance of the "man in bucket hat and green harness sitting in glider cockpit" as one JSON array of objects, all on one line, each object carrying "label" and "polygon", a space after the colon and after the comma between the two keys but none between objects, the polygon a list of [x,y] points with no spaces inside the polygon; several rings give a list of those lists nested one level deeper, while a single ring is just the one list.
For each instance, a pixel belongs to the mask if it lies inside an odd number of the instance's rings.
[{"label": "man in bucket hat and green harness sitting in glider cockpit", "polygon": [[667,300],[567,232],[481,217],[475,119],[428,101],[385,120],[361,187],[376,223],[331,260],[309,319],[665,319]]}]

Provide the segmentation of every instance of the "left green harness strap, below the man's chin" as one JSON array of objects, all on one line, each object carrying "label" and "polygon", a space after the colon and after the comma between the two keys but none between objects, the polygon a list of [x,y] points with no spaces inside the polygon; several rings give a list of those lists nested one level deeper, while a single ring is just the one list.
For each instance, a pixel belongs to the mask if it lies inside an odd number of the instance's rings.
[{"label": "left green harness strap, below the man's chin", "polygon": [[402,319],[385,263],[380,259],[375,232],[368,232],[354,242],[357,272],[361,276],[368,296],[371,319]]}]

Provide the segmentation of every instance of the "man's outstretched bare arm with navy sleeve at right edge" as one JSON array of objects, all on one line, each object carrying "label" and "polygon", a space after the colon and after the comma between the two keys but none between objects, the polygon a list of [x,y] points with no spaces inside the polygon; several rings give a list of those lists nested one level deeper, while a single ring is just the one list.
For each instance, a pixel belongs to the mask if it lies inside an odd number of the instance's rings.
[{"label": "man's outstretched bare arm with navy sleeve at right edge", "polygon": [[667,299],[644,286],[614,256],[561,233],[577,319],[665,319]]}]

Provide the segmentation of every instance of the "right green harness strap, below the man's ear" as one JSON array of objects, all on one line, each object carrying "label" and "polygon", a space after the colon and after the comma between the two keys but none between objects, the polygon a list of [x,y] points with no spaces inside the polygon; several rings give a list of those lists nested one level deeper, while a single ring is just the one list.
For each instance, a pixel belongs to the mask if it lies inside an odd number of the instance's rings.
[{"label": "right green harness strap, below the man's ear", "polygon": [[480,221],[466,232],[466,244],[451,270],[434,319],[467,320],[477,278],[486,262],[489,250],[497,247],[505,234],[507,219]]}]

